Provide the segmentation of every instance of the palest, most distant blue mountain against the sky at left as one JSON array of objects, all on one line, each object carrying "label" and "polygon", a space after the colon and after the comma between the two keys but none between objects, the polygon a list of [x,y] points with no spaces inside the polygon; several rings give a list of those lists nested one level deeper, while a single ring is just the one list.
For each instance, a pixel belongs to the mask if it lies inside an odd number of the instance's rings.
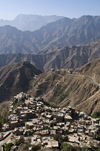
[{"label": "palest, most distant blue mountain against the sky at left", "polygon": [[62,19],[63,16],[18,15],[14,20],[0,20],[0,26],[10,25],[22,31],[35,31],[42,26]]}]

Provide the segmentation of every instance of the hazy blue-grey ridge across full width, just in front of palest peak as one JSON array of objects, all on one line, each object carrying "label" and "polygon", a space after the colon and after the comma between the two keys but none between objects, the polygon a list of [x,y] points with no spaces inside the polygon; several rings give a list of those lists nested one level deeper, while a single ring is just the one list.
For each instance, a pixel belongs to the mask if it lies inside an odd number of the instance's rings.
[{"label": "hazy blue-grey ridge across full width, just in front of palest peak", "polygon": [[100,17],[63,18],[34,32],[0,27],[0,54],[33,54],[57,47],[84,45],[100,39]]}]

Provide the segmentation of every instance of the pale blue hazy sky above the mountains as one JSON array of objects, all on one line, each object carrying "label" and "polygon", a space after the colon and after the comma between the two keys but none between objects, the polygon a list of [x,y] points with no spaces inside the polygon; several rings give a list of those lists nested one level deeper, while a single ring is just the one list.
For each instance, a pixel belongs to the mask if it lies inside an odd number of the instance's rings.
[{"label": "pale blue hazy sky above the mountains", "polygon": [[100,0],[0,0],[0,19],[19,14],[58,15],[78,18],[100,15]]}]

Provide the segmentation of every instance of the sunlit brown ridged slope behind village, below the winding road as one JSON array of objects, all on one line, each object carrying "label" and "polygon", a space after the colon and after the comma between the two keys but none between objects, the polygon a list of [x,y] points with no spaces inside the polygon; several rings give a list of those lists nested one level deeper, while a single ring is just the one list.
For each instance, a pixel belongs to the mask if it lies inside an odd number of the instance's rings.
[{"label": "sunlit brown ridged slope behind village, below the winding road", "polygon": [[42,73],[31,82],[31,95],[42,96],[50,104],[72,106],[79,111],[93,114],[100,111],[100,88],[91,78],[67,71]]}]

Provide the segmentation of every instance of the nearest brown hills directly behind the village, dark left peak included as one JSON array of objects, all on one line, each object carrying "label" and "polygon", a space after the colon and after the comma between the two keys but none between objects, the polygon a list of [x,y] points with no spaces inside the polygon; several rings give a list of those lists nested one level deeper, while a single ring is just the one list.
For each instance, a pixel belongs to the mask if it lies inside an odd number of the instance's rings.
[{"label": "nearest brown hills directly behind the village, dark left peak included", "polygon": [[[78,72],[40,71],[28,62],[0,68],[0,102],[19,92],[43,97],[49,104],[72,106],[87,114],[100,109],[100,59],[82,66]],[[37,75],[37,76],[35,76]],[[92,80],[93,78],[93,80]]]}]

